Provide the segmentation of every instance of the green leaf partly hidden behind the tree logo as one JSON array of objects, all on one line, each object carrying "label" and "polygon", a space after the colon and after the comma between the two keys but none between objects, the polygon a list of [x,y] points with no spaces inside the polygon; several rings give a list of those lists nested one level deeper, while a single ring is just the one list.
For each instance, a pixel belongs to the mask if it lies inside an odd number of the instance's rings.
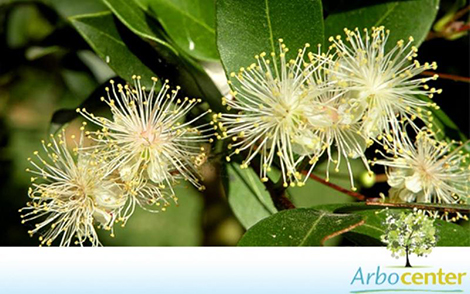
[{"label": "green leaf partly hidden behind the tree logo", "polygon": [[[365,223],[344,234],[357,245],[381,245],[380,236],[385,233],[386,214],[383,209],[364,203],[335,204],[314,206],[313,209],[324,209],[334,213],[350,213],[364,218]],[[437,246],[470,246],[470,228],[436,219],[438,229]]]}]

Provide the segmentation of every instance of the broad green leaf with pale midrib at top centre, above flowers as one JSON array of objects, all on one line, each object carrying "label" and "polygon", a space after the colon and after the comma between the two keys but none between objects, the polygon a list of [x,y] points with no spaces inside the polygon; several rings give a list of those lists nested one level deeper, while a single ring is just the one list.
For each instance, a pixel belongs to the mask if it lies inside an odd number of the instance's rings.
[{"label": "broad green leaf with pale midrib at top centre, above flowers", "polygon": [[293,52],[305,43],[323,43],[320,0],[218,0],[216,15],[217,47],[226,73],[249,66],[263,51],[278,53],[279,38]]}]

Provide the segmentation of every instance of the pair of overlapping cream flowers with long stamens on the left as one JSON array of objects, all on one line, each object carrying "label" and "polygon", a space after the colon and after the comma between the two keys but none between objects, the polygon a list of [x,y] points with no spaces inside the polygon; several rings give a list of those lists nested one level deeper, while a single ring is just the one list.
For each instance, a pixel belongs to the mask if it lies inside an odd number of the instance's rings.
[{"label": "pair of overlapping cream flowers with long stamens on the left", "polygon": [[[191,124],[210,110],[184,122],[201,100],[178,98],[179,87],[171,90],[168,81],[155,92],[157,79],[147,93],[140,77],[133,78],[135,88],[113,81],[106,88],[101,100],[111,118],[77,109],[100,129],[86,131],[84,122],[78,140],[70,136],[73,148],[62,130],[42,142],[46,157],[36,151],[37,160],[29,159],[31,201],[20,212],[23,223],[38,221],[29,234],[39,233],[41,245],[56,239],[61,246],[100,245],[95,223],[114,236],[113,225],[124,226],[136,205],[155,212],[176,202],[172,187],[181,180],[204,189],[198,167],[206,160],[213,127]],[[92,144],[87,146],[87,139]]]}]

